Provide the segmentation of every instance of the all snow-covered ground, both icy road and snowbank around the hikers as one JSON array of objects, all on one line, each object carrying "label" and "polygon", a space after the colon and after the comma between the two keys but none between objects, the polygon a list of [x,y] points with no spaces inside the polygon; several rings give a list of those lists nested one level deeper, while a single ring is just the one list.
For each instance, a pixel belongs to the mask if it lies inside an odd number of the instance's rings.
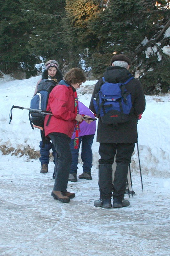
[{"label": "all snow-covered ground, both icy road and snowbank around the hikers", "polygon": [[[63,204],[50,196],[53,162],[47,174],[40,174],[41,164],[34,159],[40,131],[31,129],[28,111],[13,109],[8,124],[12,105],[29,108],[39,78],[0,78],[0,255],[169,255],[170,96],[146,96],[146,110],[138,124],[144,190],[135,148],[131,163],[135,195],[129,198],[130,206],[93,206],[99,198],[99,145],[95,139],[92,180],[69,182],[68,191],[76,197]],[[87,81],[78,90],[78,98],[86,106],[95,82]],[[81,174],[81,160],[78,167]]]}]

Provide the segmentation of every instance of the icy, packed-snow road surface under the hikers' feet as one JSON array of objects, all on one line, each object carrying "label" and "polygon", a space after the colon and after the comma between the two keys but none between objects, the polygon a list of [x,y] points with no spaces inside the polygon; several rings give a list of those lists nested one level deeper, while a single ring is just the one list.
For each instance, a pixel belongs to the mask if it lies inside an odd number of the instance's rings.
[{"label": "icy, packed-snow road surface under the hikers' feet", "polygon": [[[169,180],[132,174],[134,198],[123,209],[93,206],[93,180],[69,182],[76,197],[50,196],[54,164],[40,174],[38,160],[0,156],[1,256],[166,256],[169,250]],[[78,174],[82,172],[80,166]],[[128,196],[126,196],[128,198]]]}]

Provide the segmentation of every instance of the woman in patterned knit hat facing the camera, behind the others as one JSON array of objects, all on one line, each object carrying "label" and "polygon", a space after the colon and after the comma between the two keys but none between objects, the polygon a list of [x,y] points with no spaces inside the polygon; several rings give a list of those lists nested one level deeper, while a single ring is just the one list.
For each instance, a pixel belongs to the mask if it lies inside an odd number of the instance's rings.
[{"label": "woman in patterned knit hat facing the camera, behind the others", "polygon": [[[59,64],[56,60],[48,60],[45,63],[45,70],[42,72],[41,79],[37,82],[34,95],[37,92],[37,86],[43,79],[54,80],[56,84],[63,79],[63,75],[59,70]],[[52,149],[53,162],[55,164],[55,147],[49,138],[45,137],[44,130],[41,130],[41,141],[40,141],[40,162],[41,162],[41,170],[40,173],[48,172],[48,164],[49,164],[49,155],[50,149]]]}]

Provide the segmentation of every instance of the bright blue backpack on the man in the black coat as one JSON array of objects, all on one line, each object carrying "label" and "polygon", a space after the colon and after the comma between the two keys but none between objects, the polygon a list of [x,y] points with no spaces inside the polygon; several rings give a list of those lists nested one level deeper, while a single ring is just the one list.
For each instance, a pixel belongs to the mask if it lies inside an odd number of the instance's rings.
[{"label": "bright blue backpack on the man in the black coat", "polygon": [[124,83],[108,83],[103,77],[104,84],[93,99],[93,105],[104,124],[121,124],[129,121],[132,108],[131,95],[126,90],[126,84],[134,77]]}]

